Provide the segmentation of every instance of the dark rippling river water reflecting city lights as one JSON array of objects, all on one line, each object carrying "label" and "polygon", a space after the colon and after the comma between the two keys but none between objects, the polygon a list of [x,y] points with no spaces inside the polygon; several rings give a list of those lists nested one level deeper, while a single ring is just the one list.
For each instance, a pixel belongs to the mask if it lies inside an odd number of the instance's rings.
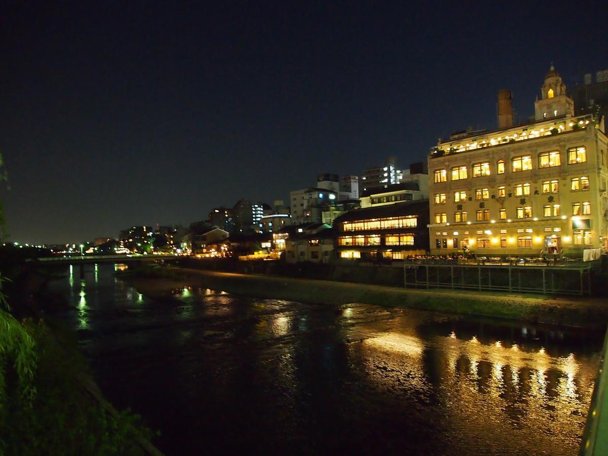
[{"label": "dark rippling river water reflecting city lights", "polygon": [[50,288],[106,397],[165,454],[578,452],[603,334],[193,287],[151,300],[125,267],[66,266]]}]

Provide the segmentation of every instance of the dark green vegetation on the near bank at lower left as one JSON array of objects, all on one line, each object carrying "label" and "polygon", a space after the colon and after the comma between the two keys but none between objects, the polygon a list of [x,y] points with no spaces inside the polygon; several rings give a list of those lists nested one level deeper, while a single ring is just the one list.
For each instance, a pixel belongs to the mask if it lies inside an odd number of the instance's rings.
[{"label": "dark green vegetation on the near bank at lower left", "polygon": [[49,274],[27,252],[0,256],[0,455],[145,454],[152,432],[116,412],[89,376],[75,335],[47,316]]}]

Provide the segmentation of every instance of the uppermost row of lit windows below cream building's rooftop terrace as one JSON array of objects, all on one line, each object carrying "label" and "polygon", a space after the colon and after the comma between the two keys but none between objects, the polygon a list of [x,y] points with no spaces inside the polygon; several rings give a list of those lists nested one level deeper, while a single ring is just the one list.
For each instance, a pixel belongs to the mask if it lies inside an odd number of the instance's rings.
[{"label": "uppermost row of lit windows below cream building's rooftop terrace", "polygon": [[[567,150],[568,165],[576,163],[583,163],[587,161],[587,150],[583,146],[571,147]],[[538,167],[539,168],[550,168],[561,165],[561,158],[559,151],[543,152],[538,154]],[[479,178],[482,176],[490,175],[489,162],[480,162],[472,164],[472,176]],[[527,171],[532,169],[532,156],[522,155],[519,157],[513,157],[511,159],[511,171],[517,173],[518,171]],[[496,173],[505,173],[505,161],[499,160],[496,162]],[[461,179],[467,179],[468,172],[466,165],[460,165],[451,168],[451,180],[460,181]],[[433,171],[433,181],[447,182],[447,170],[445,168]]]}]

